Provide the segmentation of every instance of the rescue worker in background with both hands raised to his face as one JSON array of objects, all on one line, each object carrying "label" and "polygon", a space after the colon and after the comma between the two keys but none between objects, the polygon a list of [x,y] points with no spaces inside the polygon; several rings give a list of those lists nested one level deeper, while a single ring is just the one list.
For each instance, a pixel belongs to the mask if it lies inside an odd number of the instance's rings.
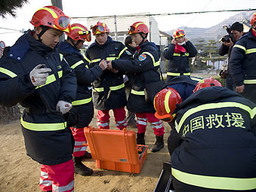
[{"label": "rescue worker in background with both hands raised to his face", "polygon": [[168,59],[167,79],[187,75],[190,76],[190,57],[197,54],[196,47],[185,37],[184,30],[176,29],[171,44],[165,47],[164,57]]}]

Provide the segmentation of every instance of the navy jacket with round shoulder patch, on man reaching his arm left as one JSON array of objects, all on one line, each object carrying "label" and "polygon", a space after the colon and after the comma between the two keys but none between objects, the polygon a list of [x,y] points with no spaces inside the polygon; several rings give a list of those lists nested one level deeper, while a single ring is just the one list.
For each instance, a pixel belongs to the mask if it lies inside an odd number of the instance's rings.
[{"label": "navy jacket with round shoulder patch, on man reaching his arm left", "polygon": [[[146,102],[144,89],[147,84],[158,86],[161,82],[159,75],[159,53],[155,47],[145,41],[140,45],[140,50],[134,53],[134,59],[118,59],[112,62],[114,69],[128,72],[132,84],[128,97],[127,108],[136,113],[154,113],[153,102]],[[161,87],[156,87],[161,89]]]}]

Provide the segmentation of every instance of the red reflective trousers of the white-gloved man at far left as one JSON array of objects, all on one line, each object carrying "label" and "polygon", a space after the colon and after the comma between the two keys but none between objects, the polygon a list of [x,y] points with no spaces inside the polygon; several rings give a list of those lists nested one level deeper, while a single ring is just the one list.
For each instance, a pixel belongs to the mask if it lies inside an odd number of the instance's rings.
[{"label": "red reflective trousers of the white-gloved man at far left", "polygon": [[74,163],[69,160],[58,165],[41,166],[39,187],[42,191],[53,192],[74,191]]}]

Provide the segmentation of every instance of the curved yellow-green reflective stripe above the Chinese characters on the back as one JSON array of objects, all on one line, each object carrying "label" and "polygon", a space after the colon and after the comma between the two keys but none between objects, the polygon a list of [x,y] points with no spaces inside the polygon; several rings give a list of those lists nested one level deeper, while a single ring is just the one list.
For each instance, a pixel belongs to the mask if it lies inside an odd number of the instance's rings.
[{"label": "curved yellow-green reflective stripe above the Chinese characters on the back", "polygon": [[184,121],[189,117],[190,115],[204,110],[211,110],[214,108],[242,108],[245,111],[248,111],[250,114],[251,119],[254,118],[254,115],[256,114],[256,107],[251,109],[247,105],[243,105],[238,102],[217,102],[217,103],[208,103],[205,105],[199,105],[196,108],[190,108],[180,119],[180,122],[176,126],[177,133],[180,132],[180,128],[183,125]]}]

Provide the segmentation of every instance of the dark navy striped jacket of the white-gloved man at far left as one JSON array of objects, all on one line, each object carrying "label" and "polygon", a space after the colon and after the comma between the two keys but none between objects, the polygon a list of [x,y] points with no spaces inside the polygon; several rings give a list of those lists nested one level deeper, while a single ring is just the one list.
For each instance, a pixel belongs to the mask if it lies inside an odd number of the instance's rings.
[{"label": "dark navy striped jacket of the white-gloved man at far left", "polygon": [[[39,64],[51,68],[46,84],[32,85],[29,72]],[[0,104],[11,106],[20,102],[25,108],[45,111],[48,102],[56,110],[59,100],[76,98],[76,76],[60,53],[32,37],[22,35],[0,59]],[[44,109],[44,110],[43,110]],[[23,111],[22,131],[27,154],[33,160],[55,165],[72,159],[72,133],[60,114],[30,114]]]}]

